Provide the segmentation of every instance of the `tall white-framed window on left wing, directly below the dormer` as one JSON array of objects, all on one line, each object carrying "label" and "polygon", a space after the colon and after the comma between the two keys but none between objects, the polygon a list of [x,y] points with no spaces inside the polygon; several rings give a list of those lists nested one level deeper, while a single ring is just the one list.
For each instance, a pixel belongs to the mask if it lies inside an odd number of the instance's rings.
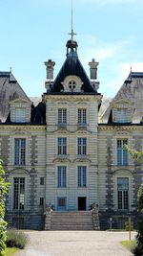
[{"label": "tall white-framed window on left wing, directly below the dormer", "polygon": [[14,165],[26,164],[26,139],[14,139]]}]

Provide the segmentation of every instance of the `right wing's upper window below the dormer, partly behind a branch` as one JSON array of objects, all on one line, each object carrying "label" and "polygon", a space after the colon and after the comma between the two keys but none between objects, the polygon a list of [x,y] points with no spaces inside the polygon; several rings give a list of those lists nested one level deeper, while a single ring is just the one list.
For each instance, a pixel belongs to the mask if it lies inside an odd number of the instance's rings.
[{"label": "right wing's upper window below the dormer, partly behind a branch", "polygon": [[128,139],[117,139],[117,165],[128,165],[128,152],[124,145],[128,144]]}]

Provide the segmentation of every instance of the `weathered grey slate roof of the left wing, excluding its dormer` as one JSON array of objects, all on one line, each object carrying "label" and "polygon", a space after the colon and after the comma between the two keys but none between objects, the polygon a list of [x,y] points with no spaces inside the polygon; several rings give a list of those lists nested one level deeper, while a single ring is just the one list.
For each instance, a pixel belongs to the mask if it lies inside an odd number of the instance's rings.
[{"label": "weathered grey slate roof of the left wing, excluding its dormer", "polygon": [[30,100],[11,72],[0,72],[0,120],[6,120],[10,112],[10,101],[17,98]]}]

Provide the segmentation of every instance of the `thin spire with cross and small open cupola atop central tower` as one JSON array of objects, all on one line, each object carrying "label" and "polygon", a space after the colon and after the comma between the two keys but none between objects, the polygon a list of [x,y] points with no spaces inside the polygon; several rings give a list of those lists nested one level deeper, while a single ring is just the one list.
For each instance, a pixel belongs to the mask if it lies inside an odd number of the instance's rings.
[{"label": "thin spire with cross and small open cupola atop central tower", "polygon": [[69,35],[71,35],[71,39],[68,40],[66,46],[67,46],[67,56],[69,55],[70,51],[69,49],[71,49],[72,53],[76,53],[77,52],[77,42],[73,40],[73,36],[76,35],[73,31],[73,12],[72,12],[72,31],[71,33],[69,33]]}]

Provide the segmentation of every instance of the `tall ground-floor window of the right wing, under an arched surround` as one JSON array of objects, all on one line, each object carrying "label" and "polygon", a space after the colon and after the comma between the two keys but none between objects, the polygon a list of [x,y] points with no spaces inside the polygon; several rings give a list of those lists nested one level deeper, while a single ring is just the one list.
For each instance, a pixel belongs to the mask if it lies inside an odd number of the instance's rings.
[{"label": "tall ground-floor window of the right wing, under an arched surround", "polygon": [[129,178],[117,178],[117,206],[118,210],[129,209]]}]

